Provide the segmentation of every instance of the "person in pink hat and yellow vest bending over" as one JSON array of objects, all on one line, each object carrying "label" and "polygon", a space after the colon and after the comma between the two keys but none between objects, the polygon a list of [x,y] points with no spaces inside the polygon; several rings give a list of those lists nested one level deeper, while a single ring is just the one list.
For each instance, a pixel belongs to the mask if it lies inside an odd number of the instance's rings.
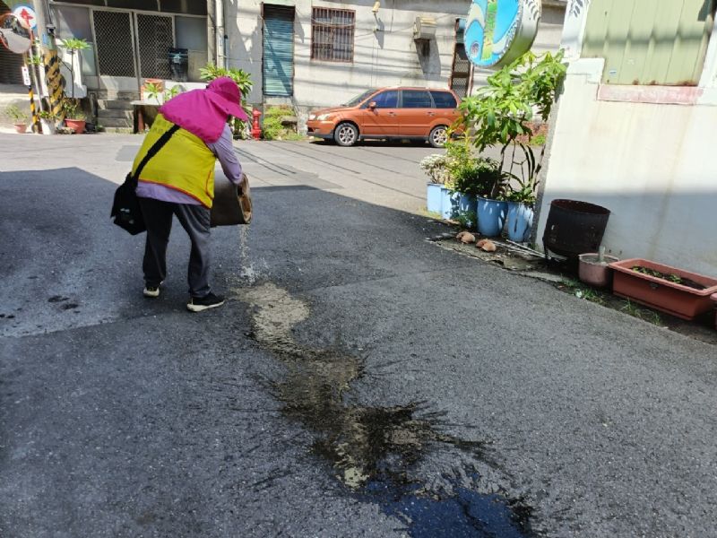
[{"label": "person in pink hat and yellow vest bending over", "polygon": [[213,80],[206,89],[181,93],[160,107],[134,158],[133,173],[160,136],[173,126],[179,127],[147,162],[138,178],[136,193],[147,227],[143,259],[145,297],[160,296],[160,285],[167,276],[172,216],[177,215],[192,241],[186,308],[201,312],[224,304],[224,298],[213,293],[209,284],[210,210],[217,159],[229,181],[240,189],[243,187],[241,164],[231,143],[229,117],[248,120],[241,108],[241,91],[229,77]]}]

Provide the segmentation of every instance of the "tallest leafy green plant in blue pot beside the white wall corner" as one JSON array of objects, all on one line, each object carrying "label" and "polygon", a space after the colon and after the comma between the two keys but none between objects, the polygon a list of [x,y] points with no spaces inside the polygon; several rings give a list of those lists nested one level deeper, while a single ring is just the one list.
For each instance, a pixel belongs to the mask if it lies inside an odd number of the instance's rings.
[{"label": "tallest leafy green plant in blue pot beside the white wall corner", "polygon": [[[463,100],[459,107],[463,131],[470,133],[479,152],[493,146],[501,148],[502,178],[478,202],[479,231],[484,235],[497,235],[503,229],[508,213],[506,197],[523,205],[516,205],[514,214],[521,214],[523,222],[527,220],[545,149],[536,159],[530,145],[522,141],[526,135],[530,139],[536,115],[543,121],[549,117],[566,74],[562,60],[563,51],[541,56],[528,52],[489,76],[488,85]],[[516,226],[516,233],[523,227]]]}]

